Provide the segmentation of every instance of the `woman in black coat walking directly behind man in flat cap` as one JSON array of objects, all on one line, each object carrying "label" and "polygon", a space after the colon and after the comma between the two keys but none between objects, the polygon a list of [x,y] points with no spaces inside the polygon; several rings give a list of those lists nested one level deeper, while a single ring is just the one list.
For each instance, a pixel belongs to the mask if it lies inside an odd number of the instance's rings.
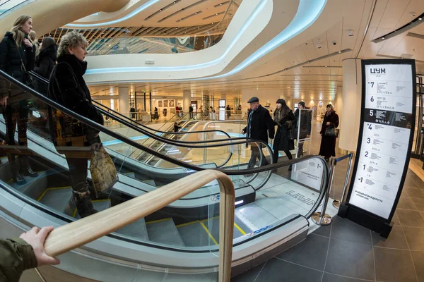
[{"label": "woman in black coat walking directly behind man in flat cap", "polygon": [[285,104],[283,99],[277,100],[277,109],[274,111],[274,123],[277,125],[277,133],[273,143],[273,163],[278,161],[278,151],[284,151],[288,159],[293,159],[290,150],[295,149],[295,142],[290,140],[288,130],[290,130],[295,115]]}]

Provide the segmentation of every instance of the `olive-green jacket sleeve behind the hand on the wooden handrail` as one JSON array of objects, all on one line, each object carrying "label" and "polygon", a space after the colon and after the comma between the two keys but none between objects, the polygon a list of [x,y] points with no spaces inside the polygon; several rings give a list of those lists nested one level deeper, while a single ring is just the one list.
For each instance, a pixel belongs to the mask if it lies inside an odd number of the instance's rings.
[{"label": "olive-green jacket sleeve behind the hand on the wooden handrail", "polygon": [[25,240],[0,240],[0,281],[18,282],[24,270],[36,266],[33,247]]}]

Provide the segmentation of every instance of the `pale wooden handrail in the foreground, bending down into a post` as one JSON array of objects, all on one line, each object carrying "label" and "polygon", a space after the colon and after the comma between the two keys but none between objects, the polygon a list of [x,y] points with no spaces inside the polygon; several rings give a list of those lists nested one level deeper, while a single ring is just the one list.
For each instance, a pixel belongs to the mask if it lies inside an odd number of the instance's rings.
[{"label": "pale wooden handrail in the foreground, bending down into a post", "polygon": [[181,197],[218,180],[220,188],[219,281],[230,281],[235,190],[220,171],[205,170],[181,178],[102,212],[55,228],[47,237],[45,251],[56,257],[162,209]]}]

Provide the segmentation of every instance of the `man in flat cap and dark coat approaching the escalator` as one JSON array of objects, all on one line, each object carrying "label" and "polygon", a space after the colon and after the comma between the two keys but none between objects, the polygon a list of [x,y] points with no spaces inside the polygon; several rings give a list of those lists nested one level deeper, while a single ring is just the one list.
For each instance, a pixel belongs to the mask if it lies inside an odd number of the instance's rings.
[{"label": "man in flat cap and dark coat approaching the escalator", "polygon": [[[250,104],[250,110],[247,118],[247,126],[242,130],[242,134],[247,133],[247,137],[249,138],[268,143],[268,137],[273,139],[275,135],[274,122],[269,111],[259,104],[258,97],[250,98],[247,103]],[[259,146],[259,143],[249,144],[252,154],[247,168],[253,168],[257,159],[261,160],[261,166],[266,166],[268,161],[265,156],[261,156],[261,146]]]}]

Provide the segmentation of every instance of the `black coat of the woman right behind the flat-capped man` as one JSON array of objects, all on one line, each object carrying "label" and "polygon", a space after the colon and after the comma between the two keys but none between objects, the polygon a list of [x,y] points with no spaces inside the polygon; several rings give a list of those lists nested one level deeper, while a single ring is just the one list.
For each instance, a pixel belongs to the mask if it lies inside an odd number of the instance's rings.
[{"label": "black coat of the woman right behind the flat-capped man", "polygon": [[290,140],[288,135],[289,129],[293,126],[293,121],[295,121],[295,116],[293,111],[288,109],[288,111],[281,113],[281,110],[276,109],[273,113],[274,123],[277,125],[276,139],[273,142],[273,149],[278,151],[288,151],[295,149],[295,142]]}]

